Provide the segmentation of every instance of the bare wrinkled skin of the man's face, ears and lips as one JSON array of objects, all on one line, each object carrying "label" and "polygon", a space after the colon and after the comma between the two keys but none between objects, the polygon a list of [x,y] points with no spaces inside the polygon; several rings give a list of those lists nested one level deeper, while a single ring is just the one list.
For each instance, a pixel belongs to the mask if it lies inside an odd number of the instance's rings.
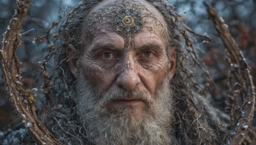
[{"label": "bare wrinkled skin of the man's face, ears and lips", "polygon": [[[109,0],[98,4],[91,11],[92,15],[113,2],[115,1]],[[145,4],[147,10],[156,16],[144,20],[152,22],[152,25],[147,24],[147,27],[143,27],[134,36],[122,36],[113,29],[94,34],[92,43],[84,48],[83,55],[69,62],[74,76],[79,79],[84,74],[88,83],[95,87],[99,97],[117,88],[147,92],[153,96],[157,86],[163,83],[164,77],[172,79],[176,58],[175,53],[167,51],[166,48],[164,19],[154,6],[145,1],[140,3]],[[92,15],[89,16],[89,20]],[[104,20],[107,22],[108,17]],[[104,29],[111,26],[106,23],[99,27]],[[69,45],[68,52],[76,53],[76,49]],[[171,56],[170,59],[167,55]],[[115,111],[120,107],[135,107],[135,114],[143,113],[147,106],[145,100],[133,96],[124,96],[120,100],[112,100],[106,104],[109,111]]]}]

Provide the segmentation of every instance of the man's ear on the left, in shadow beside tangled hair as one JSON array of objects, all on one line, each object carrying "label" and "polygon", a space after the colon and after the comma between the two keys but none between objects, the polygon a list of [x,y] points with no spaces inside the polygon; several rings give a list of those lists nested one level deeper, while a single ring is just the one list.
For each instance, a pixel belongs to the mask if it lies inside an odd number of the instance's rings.
[{"label": "man's ear on the left, in shadow beside tangled hair", "polygon": [[66,48],[66,56],[68,58],[68,66],[70,67],[70,70],[72,74],[75,76],[75,78],[78,78],[80,75],[79,66],[77,65],[77,61],[79,59],[78,52],[76,48],[69,44]]}]

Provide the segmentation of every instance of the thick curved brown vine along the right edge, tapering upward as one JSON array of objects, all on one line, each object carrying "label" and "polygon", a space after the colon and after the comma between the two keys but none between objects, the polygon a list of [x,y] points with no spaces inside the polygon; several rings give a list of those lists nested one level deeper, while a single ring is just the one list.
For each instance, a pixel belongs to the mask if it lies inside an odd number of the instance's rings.
[{"label": "thick curved brown vine along the right edge, tapering upward", "polygon": [[223,19],[218,16],[217,11],[211,8],[209,4],[204,4],[207,6],[214,27],[227,49],[227,62],[230,66],[228,99],[231,104],[230,118],[233,123],[230,126],[232,130],[226,139],[226,143],[241,144],[252,124],[255,106],[255,90],[252,76],[250,75],[250,67]]}]

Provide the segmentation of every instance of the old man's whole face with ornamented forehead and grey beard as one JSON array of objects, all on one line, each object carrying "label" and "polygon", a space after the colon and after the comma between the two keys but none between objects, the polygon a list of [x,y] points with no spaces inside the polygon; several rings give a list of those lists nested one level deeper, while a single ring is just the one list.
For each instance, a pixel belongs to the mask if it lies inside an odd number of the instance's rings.
[{"label": "old man's whole face with ornamented forehead and grey beard", "polygon": [[[165,138],[170,136],[172,120],[168,82],[175,57],[168,59],[163,16],[145,1],[109,0],[92,9],[86,28],[92,42],[77,60],[81,67],[70,67],[78,82],[77,108],[85,128],[93,132],[89,134],[97,136],[98,143],[99,135],[121,139],[125,134],[128,140],[129,134],[134,135],[132,144],[137,142],[134,137],[143,135],[151,137],[151,143],[169,142]],[[124,144],[118,141],[116,144]]]}]

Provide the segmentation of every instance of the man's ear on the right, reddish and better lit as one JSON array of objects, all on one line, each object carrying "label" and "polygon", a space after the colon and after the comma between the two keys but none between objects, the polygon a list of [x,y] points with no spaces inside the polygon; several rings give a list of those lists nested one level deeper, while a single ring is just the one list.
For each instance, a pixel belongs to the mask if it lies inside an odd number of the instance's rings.
[{"label": "man's ear on the right, reddish and better lit", "polygon": [[176,69],[176,60],[177,60],[177,53],[175,52],[175,48],[171,48],[170,51],[168,51],[169,57],[169,64],[168,64],[168,80],[170,81],[173,78],[175,69]]}]

